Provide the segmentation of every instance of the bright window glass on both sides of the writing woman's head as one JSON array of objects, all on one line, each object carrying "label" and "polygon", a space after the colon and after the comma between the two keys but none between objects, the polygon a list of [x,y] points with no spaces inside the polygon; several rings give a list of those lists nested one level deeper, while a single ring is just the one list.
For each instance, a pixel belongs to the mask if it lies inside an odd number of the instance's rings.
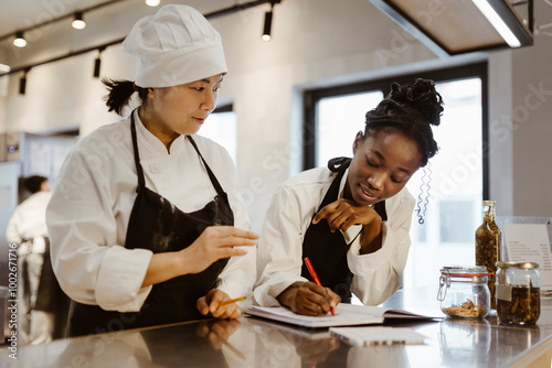
[{"label": "bright window glass on both sides of the writing woman's head", "polygon": [[[442,82],[436,83],[436,88],[445,101],[440,126],[434,128],[439,151],[407,184],[416,202],[423,199],[420,212],[424,224],[418,224],[416,207],[405,288],[436,288],[443,266],[475,264],[474,234],[479,226],[482,199],[481,79]],[[317,166],[335,156],[352,155],[352,142],[357,132],[364,129],[365,112],[382,98],[381,91],[370,91],[319,101]],[[429,174],[429,183],[423,178],[425,174]]]}]

